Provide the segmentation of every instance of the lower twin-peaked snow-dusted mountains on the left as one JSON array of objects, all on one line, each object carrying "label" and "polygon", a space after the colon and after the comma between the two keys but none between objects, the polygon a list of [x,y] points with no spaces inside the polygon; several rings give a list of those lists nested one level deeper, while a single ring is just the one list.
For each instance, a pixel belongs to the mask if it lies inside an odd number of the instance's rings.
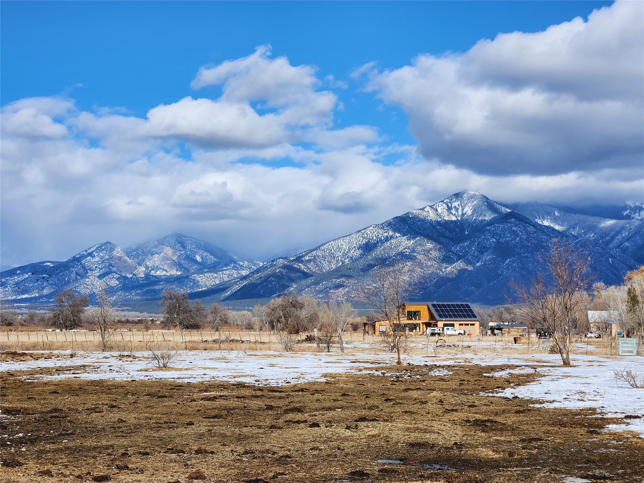
[{"label": "lower twin-peaked snow-dusted mountains on the left", "polygon": [[42,261],[5,270],[0,274],[0,297],[49,302],[64,289],[91,296],[104,283],[120,300],[156,298],[164,289],[205,290],[240,278],[260,265],[181,234],[140,243],[127,252],[105,242],[66,261]]}]

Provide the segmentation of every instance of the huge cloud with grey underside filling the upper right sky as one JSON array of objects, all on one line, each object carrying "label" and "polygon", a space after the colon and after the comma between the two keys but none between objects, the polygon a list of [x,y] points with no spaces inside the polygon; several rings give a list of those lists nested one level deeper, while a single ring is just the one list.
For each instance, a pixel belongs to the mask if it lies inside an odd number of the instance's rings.
[{"label": "huge cloud with grey underside filling the upper right sky", "polygon": [[361,72],[403,109],[426,158],[491,175],[641,167],[643,15],[644,3],[617,2],[588,21]]}]

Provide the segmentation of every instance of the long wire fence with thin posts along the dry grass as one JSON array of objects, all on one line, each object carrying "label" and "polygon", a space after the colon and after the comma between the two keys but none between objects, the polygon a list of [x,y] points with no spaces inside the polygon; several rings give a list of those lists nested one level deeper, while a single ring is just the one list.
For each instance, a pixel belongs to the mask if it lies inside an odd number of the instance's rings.
[{"label": "long wire fence with thin posts along the dry grass", "polygon": [[[308,336],[308,337],[307,337]],[[299,335],[296,352],[319,352],[324,345],[316,345],[314,334]],[[307,342],[308,341],[308,342]],[[214,351],[279,351],[281,346],[274,332],[252,330],[113,330],[108,332],[109,350],[114,352],[143,352],[160,345],[172,345],[178,350]],[[638,355],[643,354],[638,341]],[[380,336],[363,332],[344,332],[343,346],[348,352],[383,352],[386,344]],[[4,351],[51,351],[71,350],[98,352],[101,350],[100,332],[97,330],[3,330],[0,332],[0,350]],[[536,336],[521,337],[515,343],[514,336],[410,336],[402,344],[407,354],[553,354],[555,346],[547,339]],[[617,339],[579,339],[573,354],[614,356],[618,355]],[[339,345],[331,347],[332,352]]]}]

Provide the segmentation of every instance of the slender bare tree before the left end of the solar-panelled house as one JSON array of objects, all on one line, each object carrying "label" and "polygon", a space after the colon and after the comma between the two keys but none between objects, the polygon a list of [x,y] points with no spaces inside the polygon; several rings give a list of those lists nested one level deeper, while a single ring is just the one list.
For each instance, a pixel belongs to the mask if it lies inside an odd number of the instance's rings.
[{"label": "slender bare tree before the left end of the solar-panelled house", "polygon": [[360,298],[372,305],[374,312],[386,321],[386,331],[381,334],[397,354],[397,364],[401,361],[401,342],[405,339],[406,320],[405,301],[412,291],[412,283],[402,263],[379,262],[374,267],[374,277],[370,285],[359,287]]}]

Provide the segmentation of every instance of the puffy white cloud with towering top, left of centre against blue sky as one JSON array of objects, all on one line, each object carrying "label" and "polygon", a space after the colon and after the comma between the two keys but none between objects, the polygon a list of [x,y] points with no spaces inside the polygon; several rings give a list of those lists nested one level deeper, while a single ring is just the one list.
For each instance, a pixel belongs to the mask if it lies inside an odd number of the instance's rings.
[{"label": "puffy white cloud with towering top, left of centre against blue sky", "polygon": [[[335,146],[349,138],[373,141],[373,129],[365,126],[325,133],[332,129],[337,97],[318,90],[321,84],[312,66],[292,66],[286,57],[270,59],[270,46],[261,46],[242,59],[199,70],[193,88],[220,85],[217,99],[185,97],[150,109],[146,118],[113,109],[81,112],[67,124],[104,147],[131,153],[143,153],[163,139],[210,149],[266,148],[305,138]],[[30,129],[42,125],[42,131],[44,122],[34,121]]]}]

